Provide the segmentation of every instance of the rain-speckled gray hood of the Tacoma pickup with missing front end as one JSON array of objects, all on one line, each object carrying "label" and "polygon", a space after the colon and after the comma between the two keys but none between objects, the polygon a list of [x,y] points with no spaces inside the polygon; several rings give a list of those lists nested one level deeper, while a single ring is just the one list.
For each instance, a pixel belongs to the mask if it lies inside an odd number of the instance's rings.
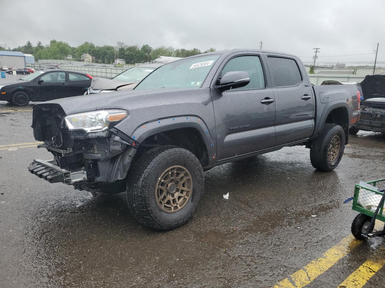
[{"label": "rain-speckled gray hood of the Tacoma pickup with missing front end", "polygon": [[[196,89],[162,88],[154,90],[129,90],[97,93],[47,101],[42,104],[33,105],[33,109],[39,108],[40,106],[47,107],[47,104],[54,103],[59,104],[66,115],[101,109],[129,110],[134,106],[156,106],[162,98],[172,99],[172,97],[177,97],[181,93],[194,93],[193,90]],[[181,91],[186,92],[184,93]]]}]

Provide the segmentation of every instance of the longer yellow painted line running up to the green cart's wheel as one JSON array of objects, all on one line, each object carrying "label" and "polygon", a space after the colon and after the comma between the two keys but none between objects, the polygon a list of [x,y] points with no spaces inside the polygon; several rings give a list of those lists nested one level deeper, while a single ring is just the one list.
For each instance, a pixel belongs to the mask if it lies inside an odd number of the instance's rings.
[{"label": "longer yellow painted line running up to the green cart's wheel", "polygon": [[284,280],[278,282],[274,288],[302,288],[315,278],[327,271],[347,253],[356,248],[362,241],[348,235],[340,243],[331,247],[322,257],[307,264]]}]

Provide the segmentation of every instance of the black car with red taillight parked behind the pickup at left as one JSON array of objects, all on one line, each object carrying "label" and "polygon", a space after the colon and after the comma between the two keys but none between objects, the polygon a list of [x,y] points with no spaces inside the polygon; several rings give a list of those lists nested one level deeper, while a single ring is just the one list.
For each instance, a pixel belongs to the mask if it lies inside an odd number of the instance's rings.
[{"label": "black car with red taillight parked behind the pickup at left", "polygon": [[92,76],[68,70],[42,70],[18,80],[0,81],[0,101],[25,106],[30,101],[49,101],[83,95]]}]

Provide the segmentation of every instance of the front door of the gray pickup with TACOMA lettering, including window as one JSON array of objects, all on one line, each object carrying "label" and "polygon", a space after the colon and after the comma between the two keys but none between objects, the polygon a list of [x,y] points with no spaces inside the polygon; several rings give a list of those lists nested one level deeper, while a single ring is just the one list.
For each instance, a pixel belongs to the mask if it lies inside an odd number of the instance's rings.
[{"label": "front door of the gray pickup with TACOMA lettering, including window", "polygon": [[275,97],[267,88],[260,56],[231,58],[219,77],[229,71],[248,72],[250,83],[224,92],[211,90],[218,160],[275,146]]}]

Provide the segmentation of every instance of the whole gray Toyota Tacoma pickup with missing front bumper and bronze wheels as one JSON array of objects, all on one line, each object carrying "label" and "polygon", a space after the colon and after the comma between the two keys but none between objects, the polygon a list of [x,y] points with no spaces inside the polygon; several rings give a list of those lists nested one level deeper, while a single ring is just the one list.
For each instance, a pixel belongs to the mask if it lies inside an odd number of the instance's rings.
[{"label": "whole gray Toyota Tacoma pickup with missing front bumper and bronze wheels", "polygon": [[53,159],[28,169],[93,194],[126,192],[139,222],[169,230],[191,218],[214,166],[302,145],[313,167],[335,169],[358,106],[355,85],[312,86],[294,55],[207,53],[132,91],[36,104],[33,135]]}]

